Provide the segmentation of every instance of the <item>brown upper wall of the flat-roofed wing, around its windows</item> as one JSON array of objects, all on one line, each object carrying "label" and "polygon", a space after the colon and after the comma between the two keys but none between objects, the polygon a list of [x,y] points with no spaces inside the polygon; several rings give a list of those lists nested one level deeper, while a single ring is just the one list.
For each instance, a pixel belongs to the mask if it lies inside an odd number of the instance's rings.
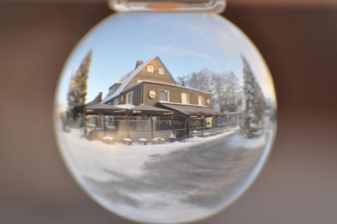
[{"label": "brown upper wall of the flat-roofed wing, around its windows", "polygon": [[[156,97],[153,99],[149,97],[149,92],[151,90],[156,92]],[[156,103],[160,101],[160,94],[159,94],[160,90],[169,91],[170,103],[181,103],[181,93],[188,93],[190,95],[191,105],[198,105],[198,95],[203,95],[205,99],[205,105],[209,107],[213,107],[212,100],[211,100],[211,94],[209,93],[203,93],[203,92],[194,91],[190,89],[179,88],[178,86],[166,86],[166,85],[161,85],[161,84],[150,84],[150,83],[143,84],[143,103],[145,105],[150,105],[150,106],[156,105]],[[206,104],[207,99],[211,100],[210,105]]]}]

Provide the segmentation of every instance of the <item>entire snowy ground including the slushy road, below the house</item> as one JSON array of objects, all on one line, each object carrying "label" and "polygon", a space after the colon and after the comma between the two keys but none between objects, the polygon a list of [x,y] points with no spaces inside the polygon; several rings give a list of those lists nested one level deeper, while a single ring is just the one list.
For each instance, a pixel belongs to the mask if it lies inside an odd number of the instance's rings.
[{"label": "entire snowy ground including the slushy road, below the house", "polygon": [[60,138],[89,195],[121,216],[159,223],[172,214],[175,222],[199,219],[232,202],[260,161],[267,134],[245,139],[233,129],[164,145],[108,145],[76,129]]}]

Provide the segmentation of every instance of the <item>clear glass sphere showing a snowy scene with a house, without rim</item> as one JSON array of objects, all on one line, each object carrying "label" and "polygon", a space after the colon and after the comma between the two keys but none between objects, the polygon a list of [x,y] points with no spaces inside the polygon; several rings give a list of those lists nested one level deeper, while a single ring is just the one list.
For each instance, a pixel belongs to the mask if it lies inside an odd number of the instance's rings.
[{"label": "clear glass sphere showing a snowy scene with a house, without rim", "polygon": [[79,185],[113,213],[185,223],[232,204],[275,137],[275,90],[251,41],[212,14],[115,14],[82,39],[55,95]]}]

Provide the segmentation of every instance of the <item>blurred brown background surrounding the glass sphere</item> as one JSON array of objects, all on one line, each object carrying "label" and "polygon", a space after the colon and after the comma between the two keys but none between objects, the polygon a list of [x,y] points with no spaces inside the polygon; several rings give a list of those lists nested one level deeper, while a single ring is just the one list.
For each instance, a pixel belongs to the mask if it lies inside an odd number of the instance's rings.
[{"label": "blurred brown background surrounding the glass sphere", "polygon": [[[91,201],[55,145],[52,106],[77,41],[105,0],[0,0],[0,223],[130,223]],[[228,0],[275,79],[279,129],[265,168],[201,223],[336,223],[337,3]]]}]

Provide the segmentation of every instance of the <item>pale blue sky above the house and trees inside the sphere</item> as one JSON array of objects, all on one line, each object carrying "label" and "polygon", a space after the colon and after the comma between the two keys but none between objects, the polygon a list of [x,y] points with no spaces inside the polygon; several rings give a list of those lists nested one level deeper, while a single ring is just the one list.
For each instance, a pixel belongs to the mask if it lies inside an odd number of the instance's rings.
[{"label": "pale blue sky above the house and trees inside the sphere", "polygon": [[120,13],[93,27],[70,54],[58,84],[57,102],[65,108],[70,79],[93,50],[88,77],[90,102],[135,68],[159,56],[174,78],[207,68],[233,71],[242,82],[244,55],[267,98],[275,100],[270,72],[251,41],[231,22],[213,14]]}]

